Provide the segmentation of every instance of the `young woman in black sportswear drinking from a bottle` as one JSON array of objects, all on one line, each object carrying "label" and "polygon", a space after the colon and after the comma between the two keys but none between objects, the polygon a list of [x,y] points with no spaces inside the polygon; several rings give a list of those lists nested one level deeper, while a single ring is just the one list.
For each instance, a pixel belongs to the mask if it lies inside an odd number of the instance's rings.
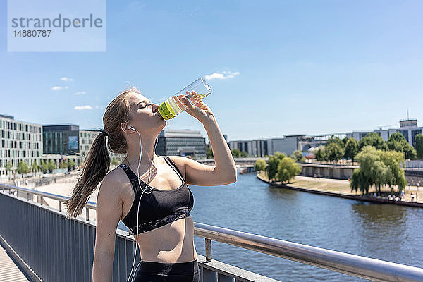
[{"label": "young woman in black sportswear drinking from a bottle", "polygon": [[[186,157],[157,156],[155,143],[166,121],[159,115],[159,105],[136,88],[121,92],[107,106],[104,130],[95,137],[78,183],[65,202],[68,214],[78,216],[101,182],[97,196],[94,282],[111,281],[119,220],[129,228],[140,248],[142,262],[136,269],[133,267],[133,281],[199,281],[194,221],[190,216],[194,199],[187,184],[226,185],[236,181],[237,172],[209,106],[202,100],[195,105],[188,99],[183,102],[188,106],[188,114],[197,118],[207,131],[214,166]],[[122,164],[111,171],[107,148],[126,154]]]}]

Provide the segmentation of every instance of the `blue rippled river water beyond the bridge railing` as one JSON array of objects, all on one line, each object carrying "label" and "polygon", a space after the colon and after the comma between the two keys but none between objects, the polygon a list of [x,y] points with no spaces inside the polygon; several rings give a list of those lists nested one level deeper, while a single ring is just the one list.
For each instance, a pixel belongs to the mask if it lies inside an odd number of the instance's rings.
[{"label": "blue rippled river water beyond the bridge railing", "polygon": [[[190,185],[195,222],[423,267],[423,209],[276,188],[254,173],[223,186]],[[122,223],[119,228],[125,229]],[[195,236],[204,255],[204,238]],[[212,242],[213,259],[281,281],[366,281]]]}]

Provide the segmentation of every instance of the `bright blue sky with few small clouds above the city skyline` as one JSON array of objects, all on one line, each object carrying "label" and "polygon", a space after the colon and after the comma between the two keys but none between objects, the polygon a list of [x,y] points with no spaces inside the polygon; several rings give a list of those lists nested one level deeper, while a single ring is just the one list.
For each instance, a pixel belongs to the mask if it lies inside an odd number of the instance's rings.
[{"label": "bright blue sky with few small clouds above the city skyline", "polygon": [[[423,1],[107,1],[106,52],[8,52],[0,9],[17,120],[102,128],[125,87],[160,103],[215,73],[204,102],[228,140],[397,128],[407,110],[423,125]],[[207,137],[186,113],[166,126]]]}]

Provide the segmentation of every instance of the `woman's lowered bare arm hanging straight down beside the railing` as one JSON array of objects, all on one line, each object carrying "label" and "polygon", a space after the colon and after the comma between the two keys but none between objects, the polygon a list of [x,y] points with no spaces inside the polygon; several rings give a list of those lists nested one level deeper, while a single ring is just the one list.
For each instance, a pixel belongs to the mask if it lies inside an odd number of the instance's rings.
[{"label": "woman's lowered bare arm hanging straight down beside the railing", "polygon": [[113,179],[112,174],[104,177],[97,195],[93,282],[112,281],[116,228],[122,215],[119,183]]}]

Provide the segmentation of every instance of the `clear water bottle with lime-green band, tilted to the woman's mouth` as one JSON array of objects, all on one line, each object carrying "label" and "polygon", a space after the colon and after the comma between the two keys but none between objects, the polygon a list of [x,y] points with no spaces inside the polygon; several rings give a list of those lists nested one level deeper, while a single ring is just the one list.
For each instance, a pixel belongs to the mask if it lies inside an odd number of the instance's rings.
[{"label": "clear water bottle with lime-green band, tilted to the woman's mouth", "polygon": [[[192,91],[195,91],[198,94],[198,97],[186,94],[187,91],[191,93]],[[178,116],[178,114],[188,109],[188,107],[183,104],[181,99],[182,97],[187,98],[192,104],[195,104],[198,102],[198,99],[204,99],[211,93],[212,89],[210,88],[207,81],[204,78],[199,78],[195,80],[195,82],[192,82],[190,85],[185,87],[183,90],[180,90],[178,93],[174,94],[165,102],[161,103],[159,106],[159,113],[166,120],[174,118],[175,116]]]}]

